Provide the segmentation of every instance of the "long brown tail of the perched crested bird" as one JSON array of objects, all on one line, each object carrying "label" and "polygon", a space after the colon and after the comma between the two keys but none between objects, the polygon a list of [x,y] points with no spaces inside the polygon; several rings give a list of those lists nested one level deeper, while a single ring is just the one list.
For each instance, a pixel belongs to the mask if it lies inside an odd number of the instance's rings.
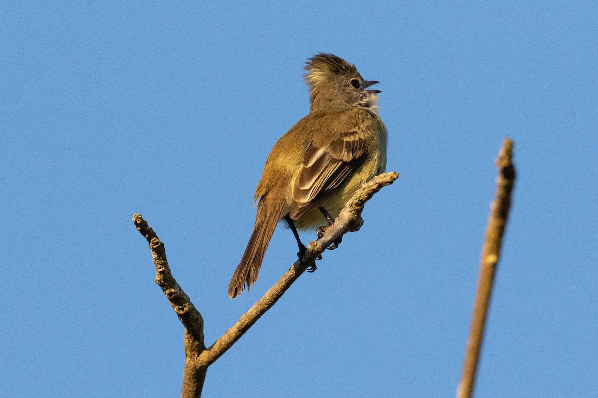
[{"label": "long brown tail of the perched crested bird", "polygon": [[237,297],[243,291],[244,285],[249,289],[258,279],[261,262],[284,206],[283,195],[268,192],[261,197],[255,216],[254,232],[251,233],[245,253],[228,285],[228,295],[231,298]]}]

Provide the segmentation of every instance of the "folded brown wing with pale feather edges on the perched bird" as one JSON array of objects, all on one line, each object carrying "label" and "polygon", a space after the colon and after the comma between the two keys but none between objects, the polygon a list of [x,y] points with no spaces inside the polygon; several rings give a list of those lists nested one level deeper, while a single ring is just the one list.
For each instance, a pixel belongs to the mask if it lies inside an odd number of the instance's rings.
[{"label": "folded brown wing with pale feather edges on the perched bird", "polygon": [[344,128],[337,134],[314,135],[292,188],[291,218],[297,219],[312,209],[318,199],[340,186],[368,157],[367,140],[373,131],[371,121],[330,125],[334,126],[331,129],[343,125]]}]

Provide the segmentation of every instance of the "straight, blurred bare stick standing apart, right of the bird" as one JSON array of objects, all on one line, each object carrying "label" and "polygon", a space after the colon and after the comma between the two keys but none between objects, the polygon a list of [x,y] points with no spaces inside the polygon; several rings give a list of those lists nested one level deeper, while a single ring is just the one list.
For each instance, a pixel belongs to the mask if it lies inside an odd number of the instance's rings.
[{"label": "straight, blurred bare stick standing apart, right of the bird", "polygon": [[475,374],[480,357],[481,344],[486,325],[486,315],[492,294],[492,285],[496,266],[501,254],[502,236],[507,226],[509,208],[511,208],[511,192],[515,183],[515,168],[511,161],[513,141],[506,138],[501,152],[496,159],[498,178],[496,179],[496,196],[490,208],[490,217],[486,228],[486,240],[480,261],[480,279],[474,303],[474,314],[463,364],[463,376],[457,388],[458,398],[471,398]]}]

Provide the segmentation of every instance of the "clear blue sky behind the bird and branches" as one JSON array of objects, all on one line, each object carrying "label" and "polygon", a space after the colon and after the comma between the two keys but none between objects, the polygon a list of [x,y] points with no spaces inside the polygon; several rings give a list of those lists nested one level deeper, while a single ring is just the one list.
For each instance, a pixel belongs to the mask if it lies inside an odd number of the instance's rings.
[{"label": "clear blue sky behind the bird and branches", "polygon": [[[454,396],[494,159],[518,180],[477,396],[598,395],[596,2],[5,2],[0,396],[176,396],[182,326],[139,212],[211,344],[294,261],[277,229],[230,300],[266,156],[319,52],[380,81],[398,180],[208,371],[205,396]],[[304,240],[313,239],[307,234]]]}]

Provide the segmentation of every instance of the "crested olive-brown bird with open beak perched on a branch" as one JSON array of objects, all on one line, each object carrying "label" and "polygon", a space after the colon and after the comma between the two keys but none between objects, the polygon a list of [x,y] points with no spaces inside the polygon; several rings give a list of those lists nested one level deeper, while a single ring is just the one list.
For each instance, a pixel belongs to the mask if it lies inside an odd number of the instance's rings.
[{"label": "crested olive-brown bird with open beak perched on a branch", "polygon": [[[334,54],[316,54],[304,69],[310,112],[276,141],[266,159],[255,188],[254,229],[228,286],[231,298],[257,280],[279,221],[292,230],[301,260],[306,246],[297,230],[318,229],[321,236],[353,193],[386,169],[381,91],[369,88],[379,82],[365,80],[355,64]],[[307,270],[315,268],[314,262]]]}]

